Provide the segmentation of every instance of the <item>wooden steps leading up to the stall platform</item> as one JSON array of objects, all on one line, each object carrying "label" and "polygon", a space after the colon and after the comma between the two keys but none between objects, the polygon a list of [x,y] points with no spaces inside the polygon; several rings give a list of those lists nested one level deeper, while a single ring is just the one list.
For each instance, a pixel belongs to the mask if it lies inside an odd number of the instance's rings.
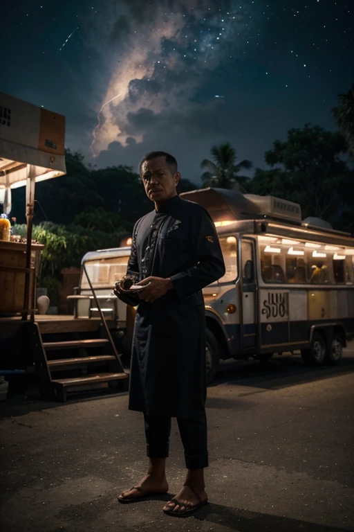
[{"label": "wooden steps leading up to the stall platform", "polygon": [[68,393],[127,389],[128,375],[100,319],[35,321],[30,347],[43,398],[64,402]]}]

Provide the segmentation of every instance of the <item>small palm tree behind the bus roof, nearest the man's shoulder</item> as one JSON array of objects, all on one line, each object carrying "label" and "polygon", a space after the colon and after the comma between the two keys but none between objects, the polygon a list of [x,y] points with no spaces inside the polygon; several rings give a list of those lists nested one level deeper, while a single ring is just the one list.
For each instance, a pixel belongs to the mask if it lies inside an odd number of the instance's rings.
[{"label": "small palm tree behind the bus roof, nearest the man's shoulder", "polygon": [[241,192],[245,191],[249,177],[238,175],[240,170],[252,168],[251,161],[244,159],[236,164],[236,150],[227,142],[218,146],[214,145],[210,152],[213,161],[204,159],[201,168],[206,171],[201,176],[204,186],[215,186],[219,188],[233,188]]}]

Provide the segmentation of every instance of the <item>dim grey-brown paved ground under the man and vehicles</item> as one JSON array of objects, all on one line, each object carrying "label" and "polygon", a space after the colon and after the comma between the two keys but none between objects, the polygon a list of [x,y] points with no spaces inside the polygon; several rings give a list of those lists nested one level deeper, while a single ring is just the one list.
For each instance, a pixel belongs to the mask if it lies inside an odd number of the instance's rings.
[{"label": "dim grey-brown paved ground under the man and vehicles", "polygon": [[[207,400],[211,504],[184,520],[162,513],[167,497],[117,502],[146,468],[127,395],[65,405],[12,397],[1,405],[1,530],[353,531],[353,370],[353,345],[335,369],[290,356],[222,364]],[[171,493],[184,475],[174,424]]]}]

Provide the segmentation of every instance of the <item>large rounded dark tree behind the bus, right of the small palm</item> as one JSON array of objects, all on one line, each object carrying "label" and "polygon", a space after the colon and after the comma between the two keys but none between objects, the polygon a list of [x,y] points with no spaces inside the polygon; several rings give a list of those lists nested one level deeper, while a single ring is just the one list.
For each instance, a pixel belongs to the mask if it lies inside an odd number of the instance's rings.
[{"label": "large rounded dark tree behind the bus, right of the small palm", "polygon": [[273,149],[265,152],[272,170],[257,168],[251,191],[298,202],[303,218],[338,220],[338,213],[348,211],[353,202],[348,197],[353,174],[343,158],[346,150],[339,132],[309,124],[289,130],[287,141],[275,141]]}]

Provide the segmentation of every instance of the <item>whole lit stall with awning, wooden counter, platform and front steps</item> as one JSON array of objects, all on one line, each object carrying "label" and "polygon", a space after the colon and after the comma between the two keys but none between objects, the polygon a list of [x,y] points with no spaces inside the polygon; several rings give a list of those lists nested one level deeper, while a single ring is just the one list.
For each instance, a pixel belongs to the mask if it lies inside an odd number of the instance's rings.
[{"label": "whole lit stall with awning, wooden counter, platform and front steps", "polygon": [[41,315],[36,308],[44,246],[32,241],[35,184],[66,173],[64,134],[64,116],[0,92],[1,211],[10,214],[11,191],[26,186],[27,220],[25,239],[11,236],[8,220],[0,220],[0,374],[34,371],[41,395],[59,400],[127,379],[100,301],[94,319]]}]

